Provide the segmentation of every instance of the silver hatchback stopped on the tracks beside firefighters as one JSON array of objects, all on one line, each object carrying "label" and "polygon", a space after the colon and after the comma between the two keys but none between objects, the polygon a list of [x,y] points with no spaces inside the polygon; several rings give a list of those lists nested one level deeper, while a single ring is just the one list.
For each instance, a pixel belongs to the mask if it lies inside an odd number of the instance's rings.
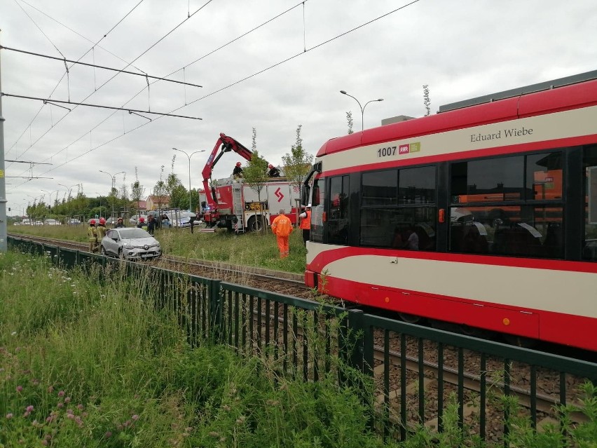
[{"label": "silver hatchback stopped on the tracks beside firefighters", "polygon": [[100,246],[102,255],[122,259],[145,259],[162,254],[160,242],[137,227],[110,229]]}]

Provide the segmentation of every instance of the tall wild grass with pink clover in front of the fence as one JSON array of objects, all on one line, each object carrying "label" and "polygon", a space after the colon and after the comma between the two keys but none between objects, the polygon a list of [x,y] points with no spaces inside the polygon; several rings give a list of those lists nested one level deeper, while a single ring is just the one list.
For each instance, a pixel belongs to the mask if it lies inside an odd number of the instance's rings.
[{"label": "tall wild grass with pink clover in front of the fence", "polygon": [[[483,446],[458,426],[454,403],[444,433],[418,428],[405,444],[384,444],[335,375],[290,381],[264,358],[188,348],[172,316],[153,306],[149,276],[99,274],[0,254],[0,447]],[[567,437],[570,447],[594,447],[597,391],[586,392],[589,424],[564,417],[543,434],[516,420],[514,398],[504,400],[513,446],[557,447]]]}]

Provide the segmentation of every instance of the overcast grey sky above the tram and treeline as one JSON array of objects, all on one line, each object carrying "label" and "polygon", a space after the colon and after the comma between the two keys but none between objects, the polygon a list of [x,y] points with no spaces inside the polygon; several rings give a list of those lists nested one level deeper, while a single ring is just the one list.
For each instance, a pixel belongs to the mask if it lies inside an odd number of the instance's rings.
[{"label": "overcast grey sky above the tram and treeline", "polygon": [[[7,95],[51,98],[202,118],[173,118],[92,107],[71,111],[2,97],[8,207],[26,208],[66,186],[86,196],[139,181],[149,193],[170,172],[200,186],[219,133],[257,148],[279,165],[302,125],[303,147],[423,116],[441,104],[589,72],[597,68],[594,0],[0,0],[0,44],[41,55],[167,77],[203,87],[1,51]],[[214,177],[240,160],[226,154]],[[244,163],[244,161],[243,161]],[[74,193],[78,186],[73,187]],[[48,195],[44,200],[48,203]],[[7,209],[8,210],[8,209]]]}]

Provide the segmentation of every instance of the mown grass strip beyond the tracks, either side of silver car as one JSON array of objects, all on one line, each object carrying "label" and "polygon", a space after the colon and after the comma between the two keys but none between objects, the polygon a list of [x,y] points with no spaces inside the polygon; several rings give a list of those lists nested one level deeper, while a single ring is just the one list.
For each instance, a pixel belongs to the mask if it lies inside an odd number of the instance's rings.
[{"label": "mown grass strip beyond the tracks, either side of silver car", "polygon": [[[87,226],[10,226],[11,233],[47,236],[84,243],[87,241]],[[303,247],[301,229],[295,229],[290,236],[290,255],[286,259],[278,256],[275,236],[268,229],[266,233],[228,233],[219,229],[215,233],[191,234],[190,229],[163,229],[156,231],[165,254],[179,257],[205,259],[215,262],[258,266],[277,271],[303,273],[307,250]]]}]

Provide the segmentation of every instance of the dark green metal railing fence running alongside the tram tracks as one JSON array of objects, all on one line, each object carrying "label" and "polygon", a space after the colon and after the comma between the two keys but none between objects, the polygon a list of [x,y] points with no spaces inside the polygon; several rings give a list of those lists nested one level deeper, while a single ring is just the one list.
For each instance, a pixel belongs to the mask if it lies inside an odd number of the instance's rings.
[{"label": "dark green metal railing fence running alongside the tram tracks", "polygon": [[45,254],[65,269],[147,273],[156,305],[176,315],[191,346],[227,344],[304,381],[333,374],[358,387],[371,428],[384,437],[406,440],[423,427],[441,433],[447,409],[457,416],[448,423],[488,442],[507,440],[521,418],[537,431],[566,419],[582,423],[579,386],[597,383],[597,364],[586,360],[26,239],[9,236],[8,247]]}]

